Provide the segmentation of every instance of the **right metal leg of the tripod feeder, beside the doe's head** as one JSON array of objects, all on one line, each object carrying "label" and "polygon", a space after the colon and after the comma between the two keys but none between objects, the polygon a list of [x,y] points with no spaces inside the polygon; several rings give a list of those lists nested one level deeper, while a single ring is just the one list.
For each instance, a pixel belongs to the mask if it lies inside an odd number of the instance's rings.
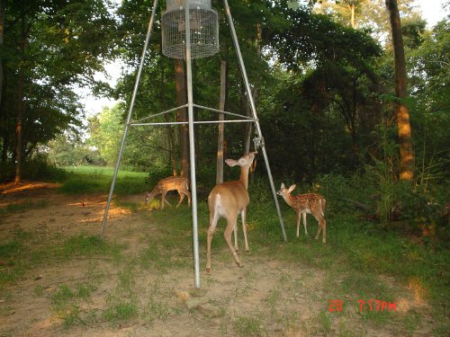
[{"label": "right metal leg of the tripod feeder, beside the doe's head", "polygon": [[[236,30],[234,29],[233,18],[231,17],[231,13],[229,11],[229,4],[228,4],[227,0],[223,0],[223,3],[225,4],[225,12],[227,12],[227,16],[228,16],[229,29],[231,30],[231,35],[233,36],[234,47],[236,49],[236,53],[238,54],[240,71],[242,72],[242,76],[243,76],[244,82],[246,84],[247,96],[248,96],[248,100],[250,102],[250,107],[251,107],[251,111],[253,113],[253,118],[257,120],[257,109],[255,107],[255,102],[253,101],[253,96],[250,91],[250,84],[248,84],[246,67],[244,66],[244,60],[242,59],[242,54],[240,52],[238,36],[236,35]],[[259,121],[257,120],[255,123],[257,124],[257,134],[259,137],[262,137],[263,134],[262,134],[261,128],[259,126]],[[283,217],[281,215],[281,210],[280,210],[280,205],[278,204],[278,199],[276,198],[274,180],[272,178],[272,172],[270,171],[269,159],[267,158],[266,147],[263,144],[263,146],[261,146],[261,148],[263,151],[264,160],[266,162],[266,170],[267,170],[267,175],[269,176],[270,187],[272,189],[272,194],[274,195],[276,212],[278,213],[278,218],[280,219],[280,226],[282,228],[283,238],[284,238],[284,241],[287,241],[286,232],[284,231]]]}]

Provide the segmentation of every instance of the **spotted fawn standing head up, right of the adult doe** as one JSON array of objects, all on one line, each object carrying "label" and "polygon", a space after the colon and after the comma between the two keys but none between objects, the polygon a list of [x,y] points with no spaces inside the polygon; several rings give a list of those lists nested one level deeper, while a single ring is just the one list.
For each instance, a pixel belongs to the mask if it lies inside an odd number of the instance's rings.
[{"label": "spotted fawn standing head up, right of the adult doe", "polygon": [[297,214],[297,237],[299,237],[300,232],[300,218],[303,215],[303,226],[305,228],[306,236],[308,236],[308,230],[306,229],[306,214],[312,214],[319,223],[319,229],[317,231],[316,240],[319,238],[320,231],[322,232],[322,242],[325,244],[326,234],[325,230],[327,227],[327,221],[325,221],[325,205],[326,200],[320,194],[308,193],[308,194],[299,194],[296,196],[291,195],[293,189],[295,189],[296,185],[291,186],[287,189],[284,186],[284,183],[281,185],[280,191],[277,191],[276,194],[279,194],[283,197],[284,201],[293,208],[295,213]]}]

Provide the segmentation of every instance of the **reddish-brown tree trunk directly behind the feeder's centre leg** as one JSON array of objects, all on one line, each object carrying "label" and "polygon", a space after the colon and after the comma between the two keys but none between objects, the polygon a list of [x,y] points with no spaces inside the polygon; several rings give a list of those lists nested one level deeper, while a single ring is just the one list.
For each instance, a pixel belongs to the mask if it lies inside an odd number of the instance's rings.
[{"label": "reddish-brown tree trunk directly behind the feeder's centre leg", "polygon": [[[184,73],[183,59],[175,59],[175,90],[176,103],[178,106],[184,105],[187,102],[186,94],[186,80]],[[187,109],[183,108],[178,111],[178,121],[187,121]],[[185,177],[190,176],[189,164],[189,129],[187,124],[180,125],[180,161],[181,161],[181,175]]]}]

